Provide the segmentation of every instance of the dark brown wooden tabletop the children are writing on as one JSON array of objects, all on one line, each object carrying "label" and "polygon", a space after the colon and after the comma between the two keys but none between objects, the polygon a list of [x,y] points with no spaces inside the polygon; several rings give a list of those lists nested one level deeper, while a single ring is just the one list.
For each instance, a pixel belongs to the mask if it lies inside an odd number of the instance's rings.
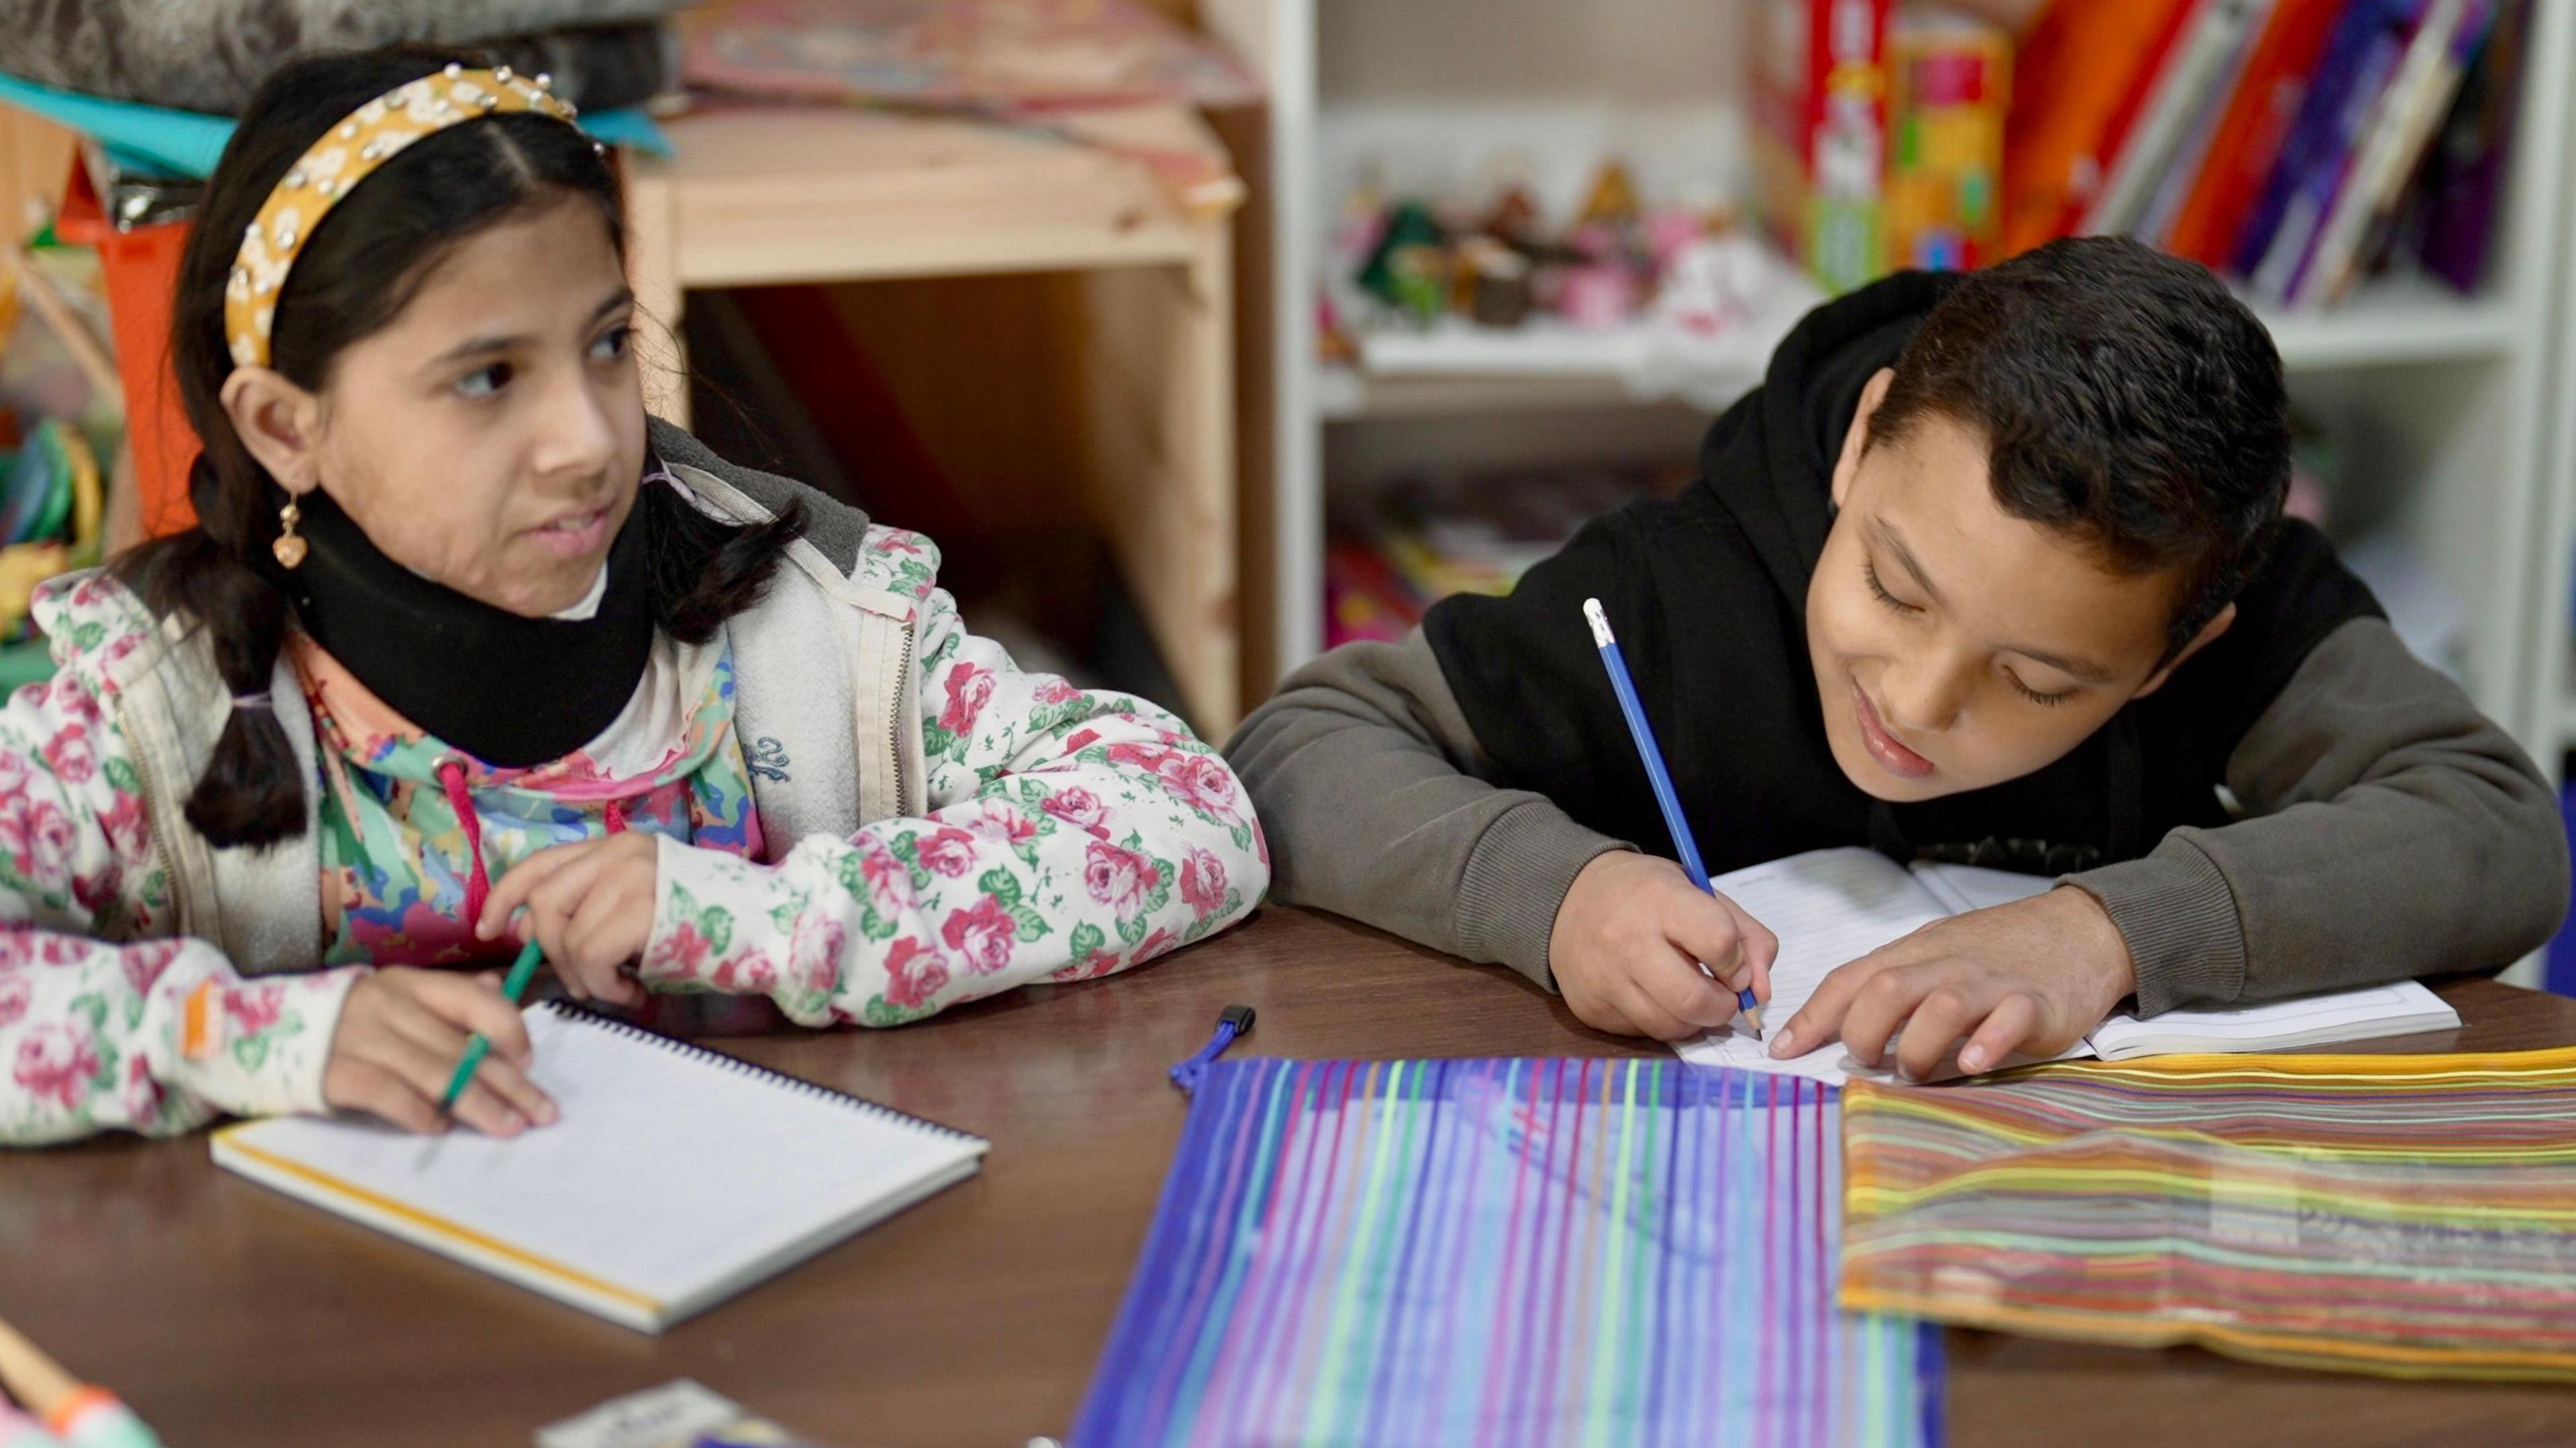
[{"label": "dark brown wooden tabletop the children are writing on", "polygon": [[[2442,995],[2465,1028],[2380,1049],[2576,1043],[2576,1000],[2478,979]],[[1229,1002],[1260,1010],[1244,1049],[1278,1056],[1656,1049],[1577,1025],[1510,971],[1267,910],[1133,976],[907,1031],[726,1041],[994,1149],[976,1180],[665,1337],[222,1175],[204,1139],[0,1154],[0,1317],[126,1394],[173,1448],[515,1445],[677,1376],[827,1443],[1018,1448],[1064,1433],[1082,1402],[1180,1139],[1164,1067]],[[2576,1443],[2576,1391],[1981,1332],[1950,1335],[1947,1404],[1958,1448]]]}]

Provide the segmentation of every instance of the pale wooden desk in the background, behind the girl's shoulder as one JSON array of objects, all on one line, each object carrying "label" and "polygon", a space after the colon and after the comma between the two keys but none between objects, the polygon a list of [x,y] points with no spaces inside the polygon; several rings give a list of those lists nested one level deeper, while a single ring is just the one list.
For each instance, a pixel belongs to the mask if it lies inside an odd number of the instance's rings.
[{"label": "pale wooden desk in the background, behind the girl's shoulder", "polygon": [[[1079,430],[1069,484],[1190,721],[1221,739],[1242,716],[1231,222],[1244,188],[1195,111],[1139,106],[1079,126],[1128,155],[940,116],[711,106],[665,124],[672,160],[629,165],[629,271],[672,345],[693,286],[1074,273],[1048,307],[1043,358],[994,356],[1010,343],[935,309],[884,319],[868,345],[938,376],[963,363],[951,407],[984,405],[979,371],[1064,371],[1051,386]],[[1139,152],[1200,157],[1203,178],[1180,196]],[[688,425],[685,389],[647,402]]]}]

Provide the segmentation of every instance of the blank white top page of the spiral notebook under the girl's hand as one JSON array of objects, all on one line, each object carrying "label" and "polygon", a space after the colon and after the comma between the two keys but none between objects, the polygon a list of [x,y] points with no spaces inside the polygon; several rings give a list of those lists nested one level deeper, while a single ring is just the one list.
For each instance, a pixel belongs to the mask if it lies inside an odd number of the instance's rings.
[{"label": "blank white top page of the spiral notebook under the girl's hand", "polygon": [[662,1301],[984,1149],[544,1005],[526,1020],[554,1126],[500,1141],[296,1116],[245,1141]]}]

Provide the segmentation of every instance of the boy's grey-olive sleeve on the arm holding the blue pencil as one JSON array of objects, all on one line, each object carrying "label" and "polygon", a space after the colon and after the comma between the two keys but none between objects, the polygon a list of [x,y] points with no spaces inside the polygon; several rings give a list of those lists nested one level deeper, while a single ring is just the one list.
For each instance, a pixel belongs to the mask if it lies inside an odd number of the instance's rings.
[{"label": "boy's grey-olive sleeve on the arm holding the blue pencil", "polygon": [[1476,734],[1419,629],[1288,675],[1226,760],[1270,837],[1270,897],[1507,964],[1546,989],[1548,933],[1605,850],[1543,794],[1479,778]]}]

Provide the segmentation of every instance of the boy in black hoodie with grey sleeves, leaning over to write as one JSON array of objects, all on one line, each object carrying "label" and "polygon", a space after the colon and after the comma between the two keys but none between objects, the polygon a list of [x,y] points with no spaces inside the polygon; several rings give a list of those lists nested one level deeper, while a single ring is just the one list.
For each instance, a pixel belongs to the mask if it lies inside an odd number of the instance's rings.
[{"label": "boy in black hoodie with grey sleeves, leaning over to write", "polygon": [[1780,343],[1680,500],[1285,680],[1229,747],[1273,894],[1602,1031],[1767,997],[1772,935],[1667,858],[1600,598],[1710,871],[1870,845],[2058,879],[1834,971],[1772,1054],[1839,1033],[1922,1074],[1965,1038],[1981,1069],[2125,997],[2509,961],[2566,907],[2555,799],[2287,482],[2280,356],[2192,263],[2069,240],[1880,281]]}]

